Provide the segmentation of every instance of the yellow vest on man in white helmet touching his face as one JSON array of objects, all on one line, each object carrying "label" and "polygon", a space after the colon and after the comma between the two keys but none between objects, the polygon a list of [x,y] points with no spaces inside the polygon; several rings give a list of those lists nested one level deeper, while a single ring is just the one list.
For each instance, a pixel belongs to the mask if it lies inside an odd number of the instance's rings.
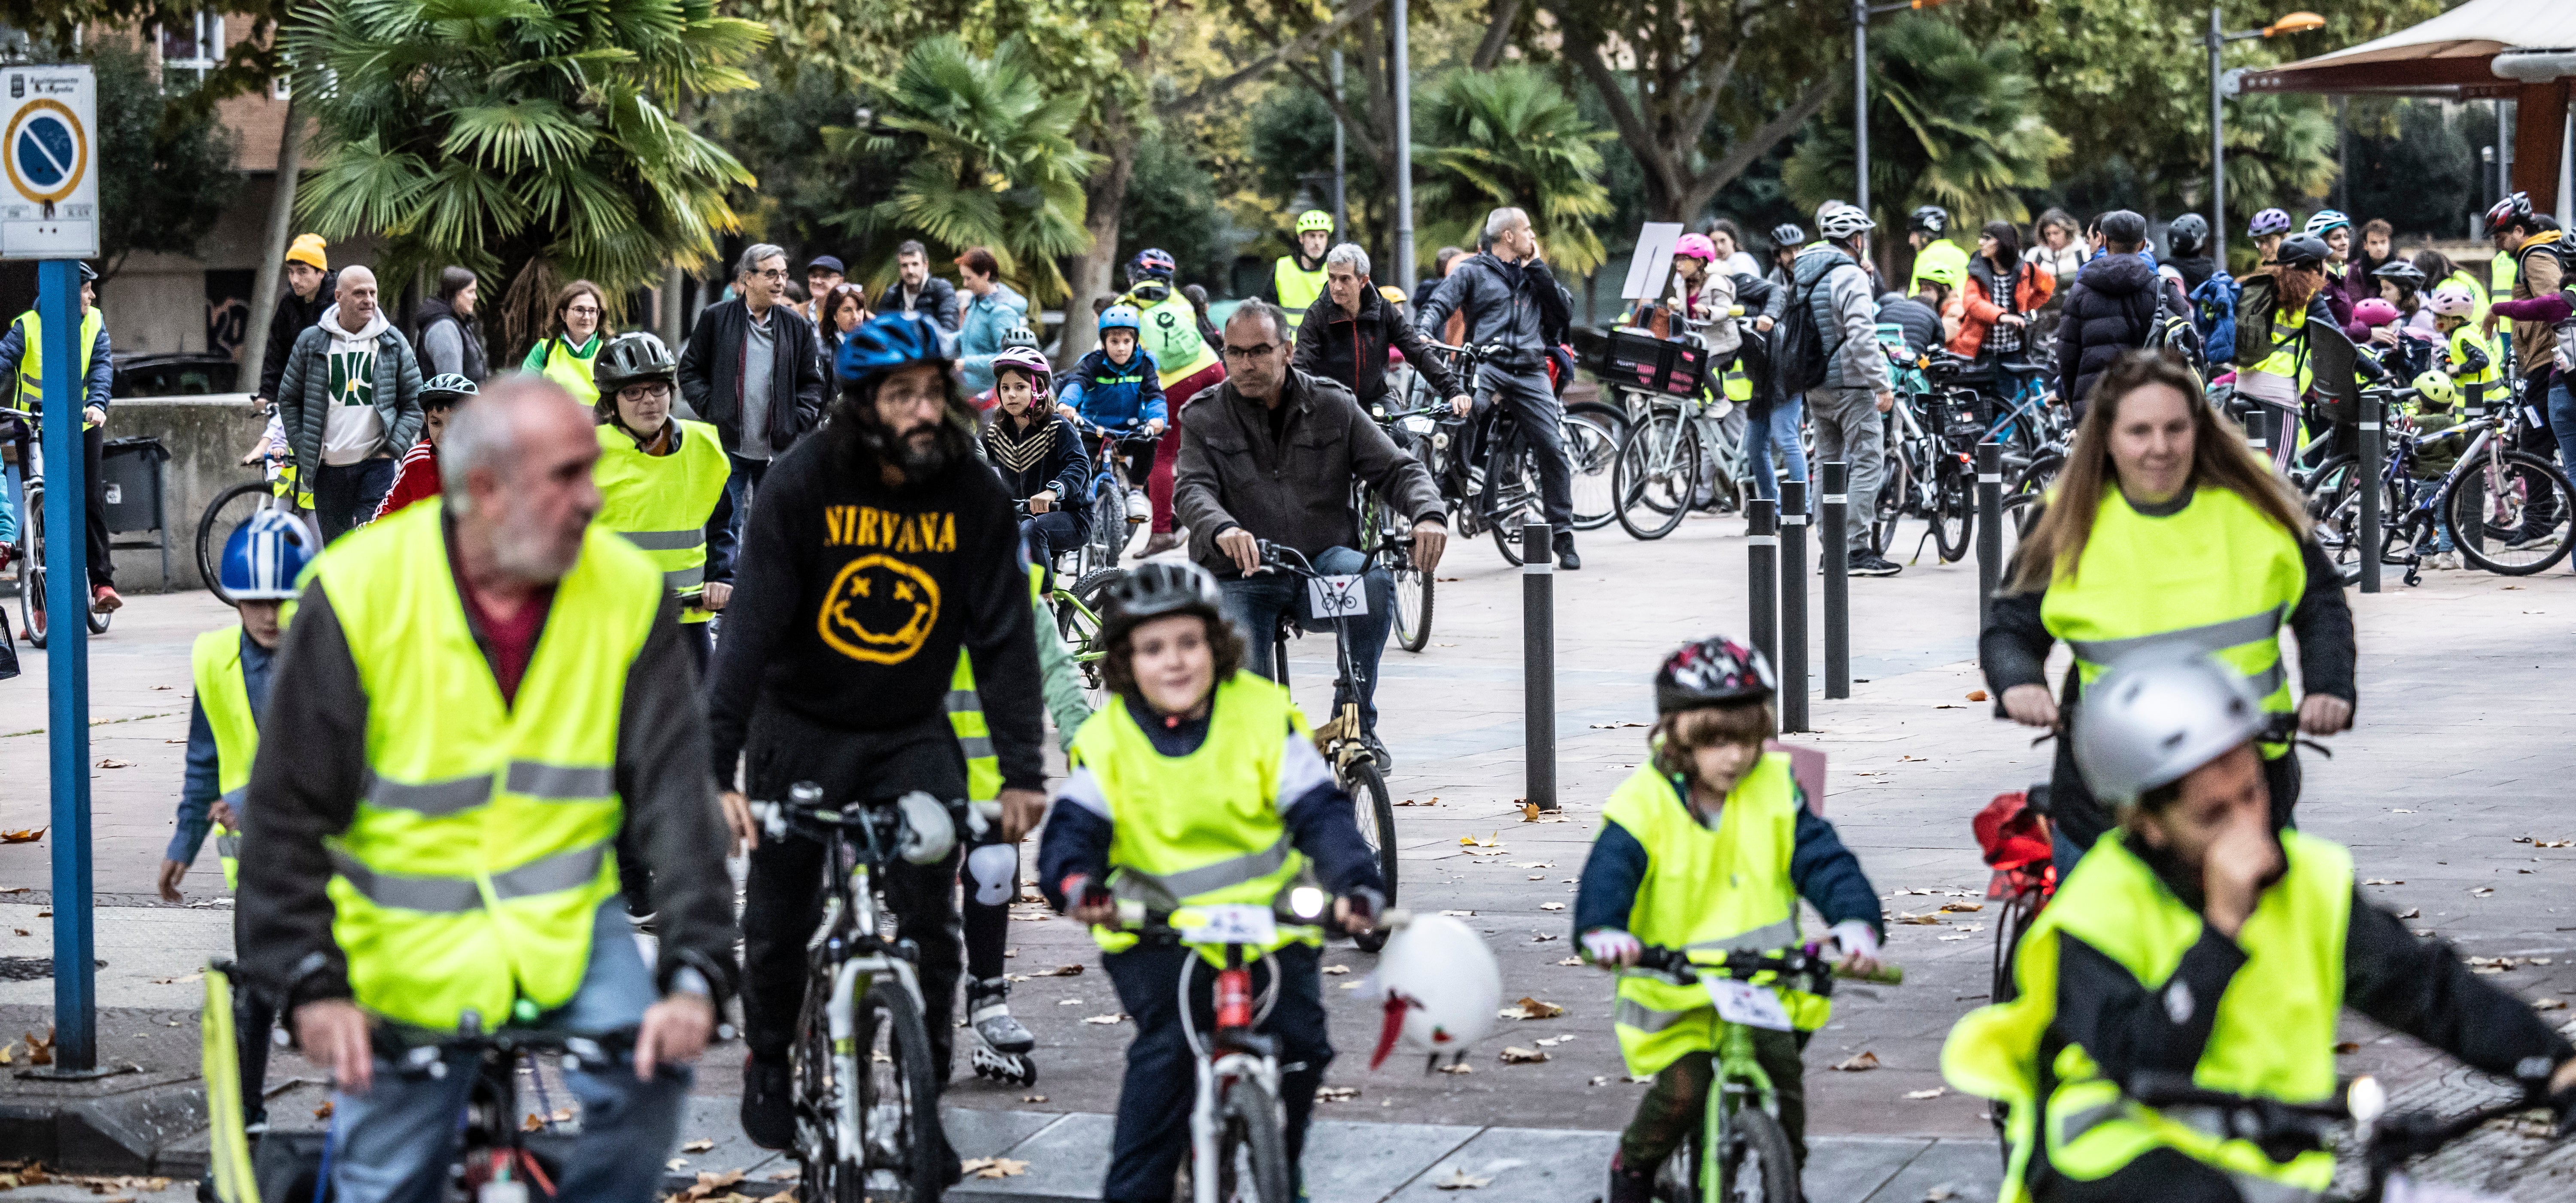
[{"label": "yellow vest on man in white helmet touching his face", "polygon": [[[2334,1020],[2344,1007],[2344,930],[2352,917],[2352,853],[2336,842],[2280,832],[2287,873],[2264,889],[2236,933],[2244,969],[2218,997],[2210,1041],[2192,1066],[2192,1085],[2282,1103],[2334,1095]],[[2244,1198],[2318,1198],[2334,1185],[2334,1154],[2311,1149],[2275,1162],[2251,1141],[2226,1139],[2195,1108],[2148,1108],[2099,1074],[2092,1054],[2069,1043],[2048,1064],[2053,1087],[2040,1092],[2040,1046],[2058,1007],[2058,933],[2074,935],[2148,989],[2161,992],[2200,940],[2200,912],[2174,896],[2128,850],[2125,832],[2107,832],[2076,863],[2056,899],[2022,935],[2012,1002],[1968,1012],[1942,1043],[1942,1077],[1968,1095],[2012,1105],[2002,1203],[2030,1198],[2032,1144],[2048,1141],[2048,1164],[2097,1182],[2151,1149],[2177,1149],[2233,1177]]]}]

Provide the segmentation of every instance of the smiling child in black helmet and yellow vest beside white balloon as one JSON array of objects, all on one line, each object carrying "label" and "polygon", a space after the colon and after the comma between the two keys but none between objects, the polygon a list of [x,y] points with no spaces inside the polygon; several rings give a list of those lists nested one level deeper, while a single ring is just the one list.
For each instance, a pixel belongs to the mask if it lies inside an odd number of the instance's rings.
[{"label": "smiling child in black helmet and yellow vest beside white balloon", "polygon": [[[1074,734],[1072,778],[1038,842],[1038,886],[1051,907],[1095,925],[1100,966],[1136,1018],[1100,1198],[1164,1203],[1190,1149],[1195,1095],[1177,984],[1200,953],[1118,930],[1118,902],[1270,904],[1319,881],[1340,899],[1334,922],[1368,930],[1386,894],[1306,719],[1288,690],[1242,667],[1244,636],[1208,569],[1185,559],[1131,569],[1108,590],[1100,644],[1110,701]],[[1252,989],[1275,992],[1260,1030],[1278,1041],[1291,1195],[1332,1061],[1319,951],[1316,927],[1283,922],[1252,969]],[[1211,966],[1190,966],[1190,1030],[1213,1028],[1213,981]]]}]

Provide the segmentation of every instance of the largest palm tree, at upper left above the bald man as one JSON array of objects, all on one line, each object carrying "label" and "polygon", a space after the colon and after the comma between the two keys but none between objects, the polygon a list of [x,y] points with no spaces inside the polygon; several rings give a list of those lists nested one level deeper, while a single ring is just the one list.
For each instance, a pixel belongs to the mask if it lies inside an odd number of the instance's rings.
[{"label": "largest palm tree, at upper left above the bald man", "polygon": [[726,188],[755,183],[672,108],[752,88],[768,39],[711,0],[314,0],[286,33],[317,149],[296,209],[379,237],[389,289],[456,263],[520,312],[556,273],[659,283],[714,255],[739,227]]}]

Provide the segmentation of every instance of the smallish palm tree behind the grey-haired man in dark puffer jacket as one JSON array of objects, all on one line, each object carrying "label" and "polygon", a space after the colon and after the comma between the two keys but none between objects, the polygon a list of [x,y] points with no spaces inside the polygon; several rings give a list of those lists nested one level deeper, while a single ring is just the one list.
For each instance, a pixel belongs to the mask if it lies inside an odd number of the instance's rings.
[{"label": "smallish palm tree behind the grey-haired man in dark puffer jacket", "polygon": [[1427,167],[1417,245],[1471,247],[1489,211],[1515,206],[1558,273],[1582,276],[1607,258],[1592,224],[1613,209],[1600,144],[1615,134],[1592,129],[1556,80],[1530,64],[1461,67],[1422,95],[1417,118],[1414,162]]}]

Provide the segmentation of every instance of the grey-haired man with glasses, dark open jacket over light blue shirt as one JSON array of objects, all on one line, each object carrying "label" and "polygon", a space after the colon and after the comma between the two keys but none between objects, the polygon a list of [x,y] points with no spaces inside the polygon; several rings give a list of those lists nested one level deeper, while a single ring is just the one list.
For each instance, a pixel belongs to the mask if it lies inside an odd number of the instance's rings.
[{"label": "grey-haired man with glasses, dark open jacket over light blue shirt", "polygon": [[716,428],[732,456],[719,518],[724,538],[708,549],[716,564],[734,562],[742,515],[752,492],[786,453],[822,422],[824,374],[814,322],[778,304],[788,286],[788,252],[755,242],[734,265],[734,299],[698,314],[680,350],[680,399]]}]

